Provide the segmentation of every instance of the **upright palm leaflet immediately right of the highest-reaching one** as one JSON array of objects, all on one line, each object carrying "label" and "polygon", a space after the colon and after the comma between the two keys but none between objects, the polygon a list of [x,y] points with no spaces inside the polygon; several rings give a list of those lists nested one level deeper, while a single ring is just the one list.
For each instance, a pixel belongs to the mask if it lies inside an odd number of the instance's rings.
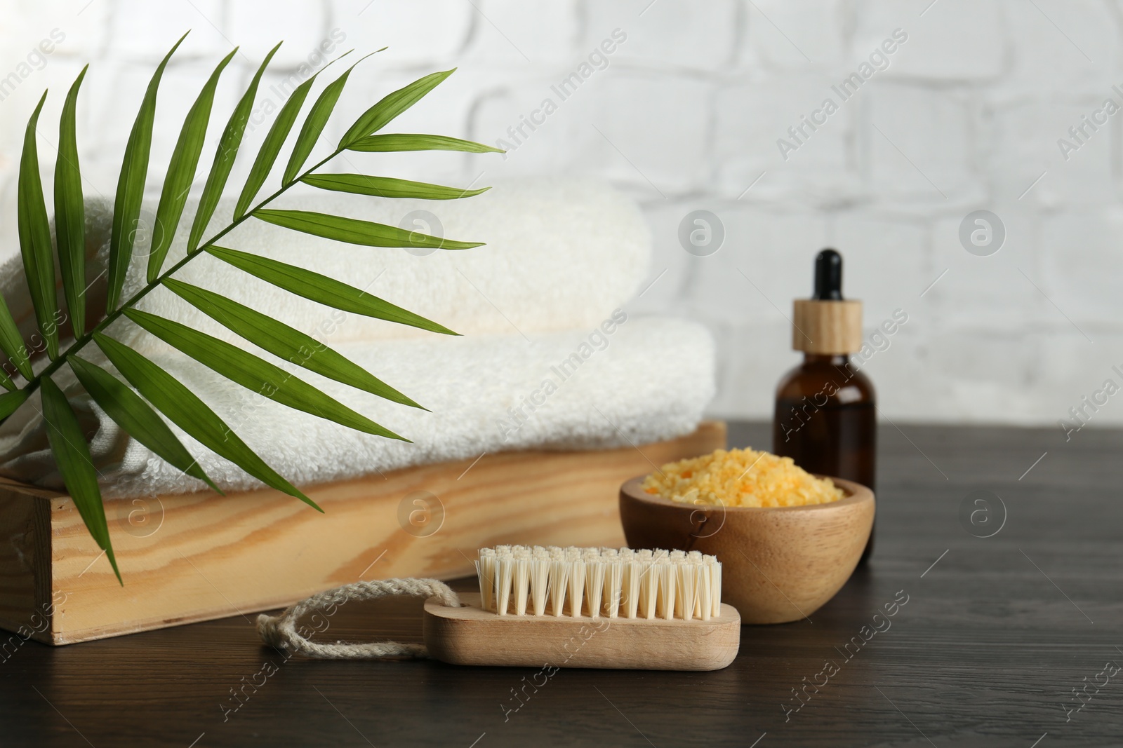
[{"label": "upright palm leaflet immediately right of the highest-reaching one", "polygon": [[188,202],[188,193],[191,191],[191,183],[194,181],[195,169],[199,167],[199,155],[203,150],[207,124],[210,122],[210,110],[214,104],[214,87],[236,52],[238,52],[237,47],[218,64],[202,91],[199,92],[195,103],[191,105],[188,118],[183,120],[183,129],[180,130],[180,139],[175,142],[175,150],[172,151],[172,161],[167,165],[164,190],[159,195],[159,205],[156,207],[152,252],[148,255],[148,283],[154,283],[159,276],[164,258],[167,257],[172,239],[175,238],[175,229],[180,225],[183,205]]}]

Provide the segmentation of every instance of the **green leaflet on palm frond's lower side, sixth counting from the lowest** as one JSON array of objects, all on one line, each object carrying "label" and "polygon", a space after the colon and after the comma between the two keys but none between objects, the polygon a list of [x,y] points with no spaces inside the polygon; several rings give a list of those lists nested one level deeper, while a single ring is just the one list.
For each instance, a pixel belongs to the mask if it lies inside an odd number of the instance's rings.
[{"label": "green leaflet on palm frond's lower side, sixth counting from the lowest", "polygon": [[430,332],[439,332],[445,335],[457,334],[445,325],[426,320],[409,310],[403,310],[377,296],[372,296],[363,289],[348,286],[326,275],[299,268],[295,265],[286,265],[285,262],[279,262],[267,257],[240,252],[236,249],[227,249],[225,247],[208,247],[207,251],[279,288],[284,288],[298,296],[310,298],[313,302],[319,302],[332,308],[354,312],[355,314],[377,320],[396,322],[410,325],[411,327],[420,327]]}]

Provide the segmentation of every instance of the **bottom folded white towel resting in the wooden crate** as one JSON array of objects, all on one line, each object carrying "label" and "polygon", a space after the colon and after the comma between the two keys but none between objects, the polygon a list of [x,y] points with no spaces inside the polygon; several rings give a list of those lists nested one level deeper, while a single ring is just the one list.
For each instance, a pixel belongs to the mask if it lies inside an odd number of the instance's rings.
[{"label": "bottom folded white towel resting in the wooden crate", "polygon": [[[281,363],[413,444],[277,405],[182,354],[154,360],[191,387],[267,463],[303,486],[503,450],[626,446],[690,433],[714,391],[709,333],[691,322],[621,317],[627,315],[618,312],[615,323],[605,327],[533,334],[529,340],[433,335],[339,347],[432,413]],[[58,380],[63,384],[62,377]],[[72,404],[86,433],[94,433],[91,451],[108,496],[204,488],[122,434],[86,396],[72,397]],[[13,421],[0,428],[0,474],[61,489],[37,412],[20,412],[33,417],[18,433]],[[261,486],[174,424],[172,428],[223,490]]]}]

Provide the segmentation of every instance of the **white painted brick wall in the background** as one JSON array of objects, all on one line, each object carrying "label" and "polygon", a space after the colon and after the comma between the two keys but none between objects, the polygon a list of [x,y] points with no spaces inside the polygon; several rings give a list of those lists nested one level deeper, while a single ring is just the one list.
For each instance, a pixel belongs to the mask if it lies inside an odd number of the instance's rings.
[{"label": "white painted brick wall in the background", "polygon": [[[421,73],[456,65],[450,83],[402,124],[492,142],[620,28],[628,38],[608,68],[508,159],[490,161],[483,182],[590,174],[642,203],[655,231],[650,278],[666,274],[636,310],[713,330],[721,352],[714,414],[769,414],[775,380],[797,360],[788,351],[791,299],[810,290],[815,251],[833,244],[870,329],[897,307],[909,313],[892,348],[867,368],[886,415],[1054,424],[1111,376],[1112,363],[1123,363],[1123,113],[1067,160],[1057,146],[1105,98],[1123,104],[1112,91],[1123,87],[1123,4],[930,2],[16,2],[0,27],[0,76],[20,70],[53,29],[65,39],[45,65],[22,68],[30,74],[0,101],[0,255],[16,247],[24,123],[49,86],[40,126],[49,163],[62,96],[85,62],[83,175],[91,192],[111,196],[141,89],[186,28],[165,79],[154,164],[170,156],[190,103],[175,94],[193,95],[231,44],[243,54],[219,89],[216,131],[275,40],[286,43],[266,85],[336,31],[346,37],[341,49],[391,47],[351,79],[344,118]],[[825,98],[838,101],[831,85],[897,28],[909,38],[887,55],[888,66],[783,158],[777,139]],[[378,163],[393,174],[465,183],[482,168],[451,154]],[[699,209],[725,228],[724,246],[705,258],[677,239],[682,218]],[[979,209],[1006,227],[990,257],[969,255],[958,238],[964,216]],[[1096,423],[1123,423],[1123,406],[1108,405]]]}]

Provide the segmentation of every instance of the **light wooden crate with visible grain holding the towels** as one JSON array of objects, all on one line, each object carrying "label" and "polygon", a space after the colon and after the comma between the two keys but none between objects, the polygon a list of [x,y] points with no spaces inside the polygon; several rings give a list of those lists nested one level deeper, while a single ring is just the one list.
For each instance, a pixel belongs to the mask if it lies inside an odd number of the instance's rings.
[{"label": "light wooden crate with visible grain holding the towels", "polygon": [[725,425],[706,422],[639,449],[408,468],[305,489],[323,515],[272,489],[107,500],[124,587],[70,497],[0,479],[0,628],[71,644],[277,608],[359,579],[454,579],[473,573],[476,548],[501,543],[622,545],[624,480],[724,445]]}]

